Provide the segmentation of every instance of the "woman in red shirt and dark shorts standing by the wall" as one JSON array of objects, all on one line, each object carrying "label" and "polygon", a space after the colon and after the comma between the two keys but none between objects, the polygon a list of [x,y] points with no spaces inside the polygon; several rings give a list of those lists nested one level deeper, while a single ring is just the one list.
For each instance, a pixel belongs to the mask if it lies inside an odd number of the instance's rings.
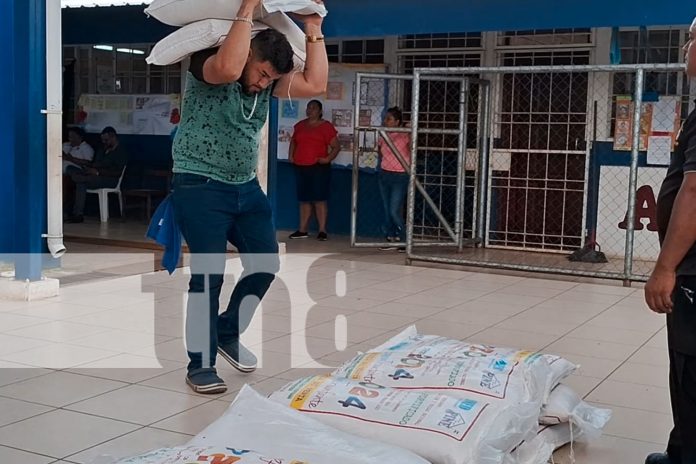
[{"label": "woman in red shirt and dark shorts standing by the wall", "polygon": [[341,147],[336,128],[323,119],[322,110],[319,100],[307,103],[307,119],[295,124],[295,132],[290,141],[289,160],[295,165],[297,199],[300,202],[300,228],[290,234],[291,239],[309,237],[307,231],[312,209],[319,223],[317,239],[328,239],[326,219],[331,161],[338,156]]}]

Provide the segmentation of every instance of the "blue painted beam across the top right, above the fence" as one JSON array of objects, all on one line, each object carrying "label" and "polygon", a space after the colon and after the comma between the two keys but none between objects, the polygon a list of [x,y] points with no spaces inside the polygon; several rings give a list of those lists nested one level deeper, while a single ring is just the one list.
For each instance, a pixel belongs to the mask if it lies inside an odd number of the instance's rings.
[{"label": "blue painted beam across the top right, above the fence", "polygon": [[693,2],[668,0],[334,0],[331,37],[690,24]]}]

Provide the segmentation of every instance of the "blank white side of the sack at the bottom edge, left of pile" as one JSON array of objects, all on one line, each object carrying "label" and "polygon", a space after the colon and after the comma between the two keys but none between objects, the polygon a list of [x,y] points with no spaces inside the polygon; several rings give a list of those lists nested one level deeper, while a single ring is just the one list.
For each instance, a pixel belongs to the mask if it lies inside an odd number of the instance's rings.
[{"label": "blank white side of the sack at the bottom edge, left of pile", "polygon": [[405,449],[341,432],[244,386],[225,413],[188,443],[243,446],[311,464],[428,464]]}]

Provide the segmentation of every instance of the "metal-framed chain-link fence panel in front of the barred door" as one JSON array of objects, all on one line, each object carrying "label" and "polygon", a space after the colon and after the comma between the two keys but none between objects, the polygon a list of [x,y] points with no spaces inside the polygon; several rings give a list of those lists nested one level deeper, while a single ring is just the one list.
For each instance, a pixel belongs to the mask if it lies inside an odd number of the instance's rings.
[{"label": "metal-framed chain-link fence panel in front of the barred door", "polygon": [[[585,51],[573,53],[573,63],[589,58]],[[473,73],[483,78],[470,79],[467,86],[475,83],[481,89],[474,129],[478,136],[475,144],[467,143],[465,154],[478,160],[475,201],[467,209],[459,199],[457,219],[461,227],[463,218],[473,217],[470,236],[480,239],[474,240],[479,246],[466,247],[461,240],[449,248],[419,242],[417,183],[422,173],[417,162],[409,190],[407,259],[645,280],[659,247],[656,234],[643,231],[654,232],[650,215],[664,172],[646,163],[646,114],[652,109],[643,99],[669,97],[684,118],[694,89],[682,76],[683,65],[558,66],[552,61],[546,66],[416,69],[411,129],[417,159],[429,155],[421,143],[428,130],[422,115],[430,104],[420,95],[424,83],[445,77],[466,80]],[[617,82],[630,85],[621,92]],[[626,93],[627,87],[630,95],[618,93]],[[628,103],[620,105],[621,99]],[[665,116],[668,127],[673,113]],[[652,118],[654,126],[663,126],[654,114]],[[467,140],[467,127],[461,129]],[[470,186],[467,176],[459,174],[462,185]],[[606,262],[567,259],[572,251],[594,246],[598,237],[611,250]]]}]

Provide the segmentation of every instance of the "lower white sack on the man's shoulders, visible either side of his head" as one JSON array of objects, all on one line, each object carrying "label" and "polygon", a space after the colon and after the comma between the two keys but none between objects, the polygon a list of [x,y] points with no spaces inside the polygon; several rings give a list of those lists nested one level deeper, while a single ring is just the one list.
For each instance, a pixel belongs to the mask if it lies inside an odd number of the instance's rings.
[{"label": "lower white sack on the man's shoulders, visible either side of his head", "polygon": [[[304,68],[306,48],[302,30],[283,13],[269,15],[268,20],[272,24],[262,22],[254,24],[251,31],[252,38],[269,27],[282,32],[295,54],[295,69]],[[158,66],[168,66],[198,51],[219,47],[227,37],[231,26],[231,21],[221,19],[208,19],[184,26],[157,42],[145,61]]]}]

